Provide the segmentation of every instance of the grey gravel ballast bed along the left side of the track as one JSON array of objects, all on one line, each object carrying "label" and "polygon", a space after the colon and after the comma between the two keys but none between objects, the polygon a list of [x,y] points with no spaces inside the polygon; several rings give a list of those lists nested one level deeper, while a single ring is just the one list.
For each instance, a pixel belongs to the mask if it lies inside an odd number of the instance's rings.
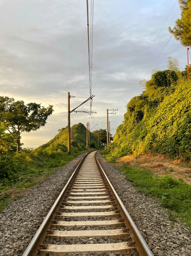
[{"label": "grey gravel ballast bed along the left side of the track", "polygon": [[22,255],[63,187],[86,153],[58,169],[0,213],[0,255]]}]

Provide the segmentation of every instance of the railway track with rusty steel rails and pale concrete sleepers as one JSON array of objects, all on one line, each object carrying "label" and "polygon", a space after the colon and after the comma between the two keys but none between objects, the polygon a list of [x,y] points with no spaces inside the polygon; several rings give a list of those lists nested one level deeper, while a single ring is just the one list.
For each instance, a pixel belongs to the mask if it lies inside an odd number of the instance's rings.
[{"label": "railway track with rusty steel rails and pale concrete sleepers", "polygon": [[23,256],[152,252],[91,151],[81,160]]}]

